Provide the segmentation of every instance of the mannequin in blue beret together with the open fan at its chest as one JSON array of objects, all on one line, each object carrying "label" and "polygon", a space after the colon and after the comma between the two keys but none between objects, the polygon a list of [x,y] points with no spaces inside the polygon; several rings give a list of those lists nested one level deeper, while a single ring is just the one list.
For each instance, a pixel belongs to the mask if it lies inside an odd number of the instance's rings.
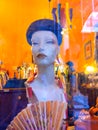
[{"label": "mannequin in blue beret together with the open fan at its chest", "polygon": [[[56,130],[60,128],[60,130],[66,130],[66,114],[64,112],[67,102],[54,73],[54,61],[62,42],[61,27],[50,19],[37,20],[29,26],[26,36],[32,47],[34,63],[37,65],[38,72],[33,80],[25,82],[28,105],[31,106],[27,106],[20,112],[11,121],[8,129]],[[53,104],[48,104],[46,107],[47,101]],[[51,101],[56,101],[57,105]],[[59,103],[63,105],[58,104],[58,101],[62,101],[63,103]],[[41,104],[39,106],[37,102],[44,102],[44,106]],[[62,117],[64,118],[62,119]]]}]

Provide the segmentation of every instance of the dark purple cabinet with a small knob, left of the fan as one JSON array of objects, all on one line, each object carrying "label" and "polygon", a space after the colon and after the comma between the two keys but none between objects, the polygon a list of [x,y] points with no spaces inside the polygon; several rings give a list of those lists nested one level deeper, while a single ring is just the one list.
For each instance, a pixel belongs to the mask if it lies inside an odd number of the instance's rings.
[{"label": "dark purple cabinet with a small knob, left of the fan", "polygon": [[0,130],[5,130],[27,103],[26,90],[23,88],[0,90]]}]

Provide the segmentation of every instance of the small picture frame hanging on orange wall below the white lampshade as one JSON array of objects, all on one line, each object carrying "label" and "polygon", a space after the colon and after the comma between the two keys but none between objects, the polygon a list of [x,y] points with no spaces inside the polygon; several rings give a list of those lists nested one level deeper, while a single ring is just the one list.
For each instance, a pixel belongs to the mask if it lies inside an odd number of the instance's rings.
[{"label": "small picture frame hanging on orange wall below the white lampshade", "polygon": [[91,45],[91,40],[89,40],[87,43],[84,45],[84,54],[85,54],[85,59],[89,59],[92,57],[92,45]]}]

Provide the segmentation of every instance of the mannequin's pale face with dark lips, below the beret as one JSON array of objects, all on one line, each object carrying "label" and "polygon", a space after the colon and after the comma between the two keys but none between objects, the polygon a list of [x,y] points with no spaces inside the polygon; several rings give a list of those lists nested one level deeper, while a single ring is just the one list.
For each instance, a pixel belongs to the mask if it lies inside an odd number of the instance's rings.
[{"label": "mannequin's pale face with dark lips, below the beret", "polygon": [[32,35],[31,41],[35,64],[53,64],[59,53],[56,35],[50,31],[37,31]]}]

